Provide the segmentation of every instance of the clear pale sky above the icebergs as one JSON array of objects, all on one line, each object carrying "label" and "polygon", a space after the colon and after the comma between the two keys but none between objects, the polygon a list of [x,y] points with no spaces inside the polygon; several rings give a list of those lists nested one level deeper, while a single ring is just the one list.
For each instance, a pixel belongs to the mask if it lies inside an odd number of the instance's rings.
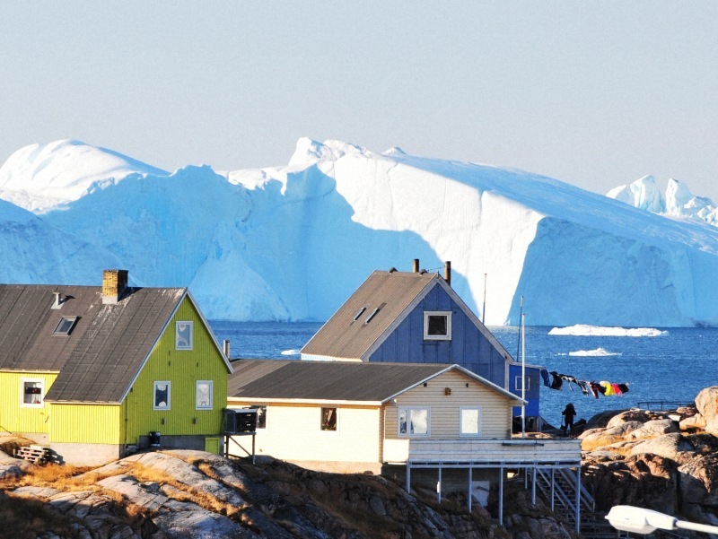
[{"label": "clear pale sky above the icebergs", "polygon": [[167,170],[302,136],[718,202],[718,3],[4,2],[0,162],[73,138]]}]

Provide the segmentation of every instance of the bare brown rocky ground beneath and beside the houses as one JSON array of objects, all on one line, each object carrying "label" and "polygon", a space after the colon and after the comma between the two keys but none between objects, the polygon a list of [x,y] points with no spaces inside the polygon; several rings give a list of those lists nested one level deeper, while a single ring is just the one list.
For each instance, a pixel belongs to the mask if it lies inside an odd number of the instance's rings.
[{"label": "bare brown rocky ground beneath and beside the houses", "polygon": [[[718,387],[675,411],[624,410],[591,419],[582,484],[596,511],[617,504],[718,524]],[[544,434],[543,436],[547,436]],[[372,474],[321,474],[271,458],[257,465],[201,451],[129,456],[92,470],[35,466],[0,452],[1,537],[171,539],[363,537],[570,539],[573,526],[506,486],[504,523],[465,496],[436,501]]]}]

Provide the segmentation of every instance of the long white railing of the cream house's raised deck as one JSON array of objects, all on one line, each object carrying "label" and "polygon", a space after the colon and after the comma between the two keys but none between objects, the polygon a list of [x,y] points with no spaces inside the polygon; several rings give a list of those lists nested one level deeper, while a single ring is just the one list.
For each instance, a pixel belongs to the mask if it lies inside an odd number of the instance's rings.
[{"label": "long white railing of the cream house's raised deck", "polygon": [[385,439],[391,463],[581,464],[577,439]]}]

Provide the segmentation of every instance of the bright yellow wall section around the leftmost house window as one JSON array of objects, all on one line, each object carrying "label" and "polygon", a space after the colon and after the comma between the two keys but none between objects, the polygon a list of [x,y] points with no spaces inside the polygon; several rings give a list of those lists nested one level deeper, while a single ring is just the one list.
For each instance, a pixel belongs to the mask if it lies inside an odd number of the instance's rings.
[{"label": "bright yellow wall section around the leftmost house window", "polygon": [[57,378],[50,372],[0,372],[0,430],[9,432],[48,433],[48,419],[52,404],[42,407],[21,406],[21,379],[35,378],[45,382],[45,393]]}]

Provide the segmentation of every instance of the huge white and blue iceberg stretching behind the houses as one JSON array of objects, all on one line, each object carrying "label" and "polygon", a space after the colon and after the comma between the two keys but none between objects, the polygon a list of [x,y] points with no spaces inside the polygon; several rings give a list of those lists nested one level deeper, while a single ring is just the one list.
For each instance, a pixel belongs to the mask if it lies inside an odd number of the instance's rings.
[{"label": "huge white and blue iceberg stretching behind the houses", "polygon": [[122,267],[188,286],[213,319],[321,321],[373,270],[419,258],[451,260],[489,325],[517,324],[521,296],[535,326],[718,325],[717,228],[398,148],[300,139],[286,166],[169,173],[62,141],[15,152],[0,198],[4,283],[99,284]]}]

